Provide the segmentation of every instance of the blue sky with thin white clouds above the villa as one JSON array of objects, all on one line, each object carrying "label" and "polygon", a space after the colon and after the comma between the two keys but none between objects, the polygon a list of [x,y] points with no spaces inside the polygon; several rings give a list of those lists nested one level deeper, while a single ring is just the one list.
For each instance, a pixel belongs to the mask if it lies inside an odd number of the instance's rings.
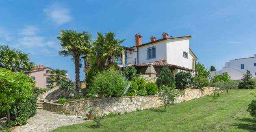
[{"label": "blue sky with thin white clouds above the villa", "polygon": [[[74,64],[59,56],[59,30],[113,31],[124,46],[143,43],[163,32],[191,35],[190,47],[209,68],[256,54],[255,0],[0,0],[0,45],[30,53],[37,65],[67,69],[74,80]],[[85,75],[82,70],[81,79]]]}]

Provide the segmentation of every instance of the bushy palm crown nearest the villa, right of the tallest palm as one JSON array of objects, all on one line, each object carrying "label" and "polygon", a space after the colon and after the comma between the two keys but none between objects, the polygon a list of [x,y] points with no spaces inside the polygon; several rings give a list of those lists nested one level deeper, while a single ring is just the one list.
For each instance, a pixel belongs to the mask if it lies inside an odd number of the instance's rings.
[{"label": "bushy palm crown nearest the villa, right of the tallest palm", "polygon": [[119,54],[123,51],[123,48],[120,46],[125,39],[119,41],[115,39],[114,32],[106,32],[105,35],[98,32],[97,39],[92,43],[92,52],[88,54],[88,61],[92,65],[95,65],[99,69],[104,68],[104,66],[110,67],[115,65],[112,58],[119,57]]}]

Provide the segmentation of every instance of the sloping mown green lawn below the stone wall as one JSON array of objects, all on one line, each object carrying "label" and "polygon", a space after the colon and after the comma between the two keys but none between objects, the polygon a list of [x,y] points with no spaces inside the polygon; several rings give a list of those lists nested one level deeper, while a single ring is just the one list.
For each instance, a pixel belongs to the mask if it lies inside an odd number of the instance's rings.
[{"label": "sloping mown green lawn below the stone wall", "polygon": [[93,121],[63,126],[52,132],[248,132],[256,131],[256,119],[247,110],[255,99],[252,90],[230,90],[217,99],[206,96],[163,107],[103,119],[100,128]]}]

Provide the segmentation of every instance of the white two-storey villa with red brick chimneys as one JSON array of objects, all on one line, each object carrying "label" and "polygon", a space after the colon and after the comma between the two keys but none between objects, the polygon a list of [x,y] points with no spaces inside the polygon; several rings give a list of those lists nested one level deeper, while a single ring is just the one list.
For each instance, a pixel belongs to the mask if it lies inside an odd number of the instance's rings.
[{"label": "white two-storey villa with red brick chimneys", "polygon": [[195,71],[197,57],[190,49],[191,36],[168,37],[168,33],[162,34],[163,38],[156,40],[152,36],[150,42],[142,43],[142,36],[135,35],[135,46],[124,47],[124,51],[117,58],[119,67],[133,65],[138,74],[145,74],[146,69],[152,64],[156,76],[163,66],[168,66],[175,75],[180,70]]}]

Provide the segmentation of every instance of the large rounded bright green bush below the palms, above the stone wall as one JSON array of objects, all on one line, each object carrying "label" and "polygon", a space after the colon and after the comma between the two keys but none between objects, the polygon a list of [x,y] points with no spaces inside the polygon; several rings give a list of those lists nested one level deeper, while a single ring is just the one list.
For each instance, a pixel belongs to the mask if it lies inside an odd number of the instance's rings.
[{"label": "large rounded bright green bush below the palms, above the stone wall", "polygon": [[126,87],[124,77],[118,71],[105,70],[93,78],[93,84],[89,87],[90,94],[108,96],[121,96]]}]

